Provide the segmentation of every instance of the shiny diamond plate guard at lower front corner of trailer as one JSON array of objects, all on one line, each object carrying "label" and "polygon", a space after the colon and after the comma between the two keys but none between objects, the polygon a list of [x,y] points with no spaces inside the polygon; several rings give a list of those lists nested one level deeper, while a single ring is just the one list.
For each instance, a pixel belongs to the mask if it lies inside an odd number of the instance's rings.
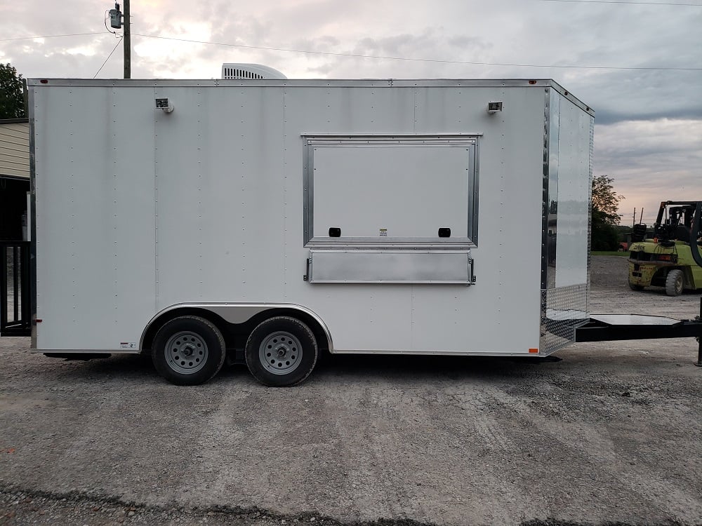
[{"label": "shiny diamond plate guard at lower front corner of trailer", "polygon": [[541,290],[542,355],[554,353],[575,342],[576,328],[588,322],[588,285],[581,283],[568,287]]}]

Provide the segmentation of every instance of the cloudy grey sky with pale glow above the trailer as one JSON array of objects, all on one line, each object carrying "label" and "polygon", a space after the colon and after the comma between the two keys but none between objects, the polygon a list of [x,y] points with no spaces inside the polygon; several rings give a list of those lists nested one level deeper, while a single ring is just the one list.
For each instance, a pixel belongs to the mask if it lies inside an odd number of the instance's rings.
[{"label": "cloudy grey sky with pale glow above the trailer", "polygon": [[[121,78],[113,7],[3,0],[0,62]],[[593,175],[625,196],[622,224],[702,200],[702,0],[131,0],[131,22],[132,78],[554,79],[595,109]]]}]

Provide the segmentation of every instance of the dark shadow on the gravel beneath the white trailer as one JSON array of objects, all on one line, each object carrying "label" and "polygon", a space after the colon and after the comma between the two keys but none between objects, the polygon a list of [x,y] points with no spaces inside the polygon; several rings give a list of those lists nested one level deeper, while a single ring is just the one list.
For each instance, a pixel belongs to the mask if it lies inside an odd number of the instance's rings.
[{"label": "dark shadow on the gravel beneath the white trailer", "polygon": [[[665,353],[647,354],[645,360],[635,354],[609,353],[602,349],[597,354],[600,367],[630,367],[631,370],[650,368],[655,363],[673,365]],[[691,348],[690,359],[679,366],[694,363],[696,352]],[[107,383],[166,383],[159,377],[149,356],[112,356],[93,360],[64,360],[44,358],[41,375],[55,382],[107,382]],[[416,356],[322,353],[307,382],[435,382],[451,381],[505,382],[519,384],[525,381],[555,381],[561,375],[580,377],[583,370],[591,370],[592,352],[576,349],[562,351],[556,356],[544,358],[528,356]],[[55,360],[55,362],[54,362]],[[673,360],[675,361],[675,360]],[[46,367],[52,363],[60,367]],[[225,365],[218,375],[208,382],[241,382],[257,384],[244,364]],[[303,384],[304,385],[304,384]]]}]

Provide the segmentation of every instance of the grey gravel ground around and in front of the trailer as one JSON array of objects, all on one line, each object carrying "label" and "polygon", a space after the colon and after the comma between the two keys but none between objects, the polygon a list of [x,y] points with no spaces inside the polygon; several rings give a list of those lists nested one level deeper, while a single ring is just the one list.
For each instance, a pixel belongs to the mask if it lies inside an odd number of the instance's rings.
[{"label": "grey gravel ground around and in front of the trailer", "polygon": [[[592,312],[694,318],[592,258]],[[699,525],[692,339],[536,362],[333,356],[289,389],[0,339],[0,525]]]}]

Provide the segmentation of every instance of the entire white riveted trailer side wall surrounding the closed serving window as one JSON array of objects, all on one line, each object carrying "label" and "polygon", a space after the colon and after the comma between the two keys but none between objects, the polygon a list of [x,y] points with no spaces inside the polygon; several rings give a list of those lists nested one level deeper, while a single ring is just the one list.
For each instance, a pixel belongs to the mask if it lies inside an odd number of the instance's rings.
[{"label": "entire white riveted trailer side wall surrounding the closed serving window", "polygon": [[[174,304],[267,302],[317,313],[340,352],[538,349],[550,88],[426,84],[35,86],[37,348],[114,351]],[[476,283],[303,281],[303,136],[324,134],[477,137]],[[563,283],[586,269],[578,232]]]}]

